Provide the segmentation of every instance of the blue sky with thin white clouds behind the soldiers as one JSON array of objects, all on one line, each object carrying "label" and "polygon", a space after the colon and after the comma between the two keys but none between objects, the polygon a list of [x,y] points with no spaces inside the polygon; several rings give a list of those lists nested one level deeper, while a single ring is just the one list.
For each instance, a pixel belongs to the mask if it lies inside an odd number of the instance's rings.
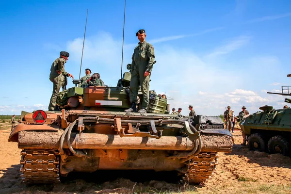
[{"label": "blue sky with thin white clouds behind the soldiers", "polygon": [[[87,9],[81,76],[90,68],[116,86],[123,0],[0,1],[0,114],[47,110],[50,66],[62,50],[65,70],[79,77]],[[227,105],[237,114],[285,104],[266,91],[291,85],[290,0],[127,0],[124,71],[139,29],[155,48],[150,89],[174,98],[171,108],[218,115]]]}]

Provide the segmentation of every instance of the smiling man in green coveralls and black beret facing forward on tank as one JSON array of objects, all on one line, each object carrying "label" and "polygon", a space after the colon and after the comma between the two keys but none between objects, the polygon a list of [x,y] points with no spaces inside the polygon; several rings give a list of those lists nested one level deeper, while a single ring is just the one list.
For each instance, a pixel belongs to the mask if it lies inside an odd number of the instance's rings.
[{"label": "smiling man in green coveralls and black beret facing forward on tank", "polygon": [[142,109],[139,113],[146,113],[149,100],[149,78],[155,61],[154,47],[146,42],[146,31],[141,29],[135,34],[139,40],[132,54],[131,79],[129,87],[129,100],[131,107],[125,112],[136,112],[136,99],[138,88],[143,93]]}]

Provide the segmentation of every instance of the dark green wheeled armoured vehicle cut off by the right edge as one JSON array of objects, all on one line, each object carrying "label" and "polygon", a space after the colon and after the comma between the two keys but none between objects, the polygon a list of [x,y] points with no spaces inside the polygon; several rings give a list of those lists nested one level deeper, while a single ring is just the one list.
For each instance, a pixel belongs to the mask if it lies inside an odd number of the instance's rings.
[{"label": "dark green wheeled armoured vehicle cut off by the right edge", "polygon": [[[287,77],[291,77],[291,74]],[[291,86],[282,86],[282,93],[267,93],[291,96]],[[291,99],[285,98],[285,102],[291,103]],[[274,109],[265,105],[259,108],[261,111],[242,120],[240,127],[248,139],[250,150],[291,156],[291,109],[284,107]]]}]

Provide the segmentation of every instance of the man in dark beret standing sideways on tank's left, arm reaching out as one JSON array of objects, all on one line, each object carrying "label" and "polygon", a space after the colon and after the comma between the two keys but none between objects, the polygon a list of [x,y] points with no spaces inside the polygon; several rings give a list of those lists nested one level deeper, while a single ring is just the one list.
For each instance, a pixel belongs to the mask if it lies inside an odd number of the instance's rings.
[{"label": "man in dark beret standing sideways on tank's left, arm reaching out", "polygon": [[60,57],[51,64],[49,80],[53,83],[53,89],[49,100],[49,111],[53,111],[56,106],[56,99],[64,81],[63,75],[74,79],[72,74],[65,72],[65,63],[68,60],[69,55],[68,52],[61,51]]}]

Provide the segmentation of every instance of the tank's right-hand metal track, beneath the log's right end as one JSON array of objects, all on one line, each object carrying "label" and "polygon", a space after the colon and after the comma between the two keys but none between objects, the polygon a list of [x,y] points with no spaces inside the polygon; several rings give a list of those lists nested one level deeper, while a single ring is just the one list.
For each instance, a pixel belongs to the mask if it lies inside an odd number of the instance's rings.
[{"label": "tank's right-hand metal track, beneath the log's right end", "polygon": [[216,152],[200,152],[191,161],[188,172],[183,175],[183,181],[189,184],[199,184],[206,181],[218,164]]}]

